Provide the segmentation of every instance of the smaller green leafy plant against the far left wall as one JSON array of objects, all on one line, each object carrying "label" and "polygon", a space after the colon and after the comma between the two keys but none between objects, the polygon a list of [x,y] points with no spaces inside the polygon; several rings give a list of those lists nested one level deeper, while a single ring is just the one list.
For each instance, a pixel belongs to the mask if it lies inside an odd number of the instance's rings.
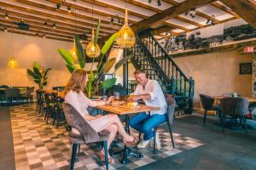
[{"label": "smaller green leafy plant against the far left wall", "polygon": [[50,69],[43,69],[42,70],[40,65],[38,64],[38,62],[34,62],[33,64],[33,71],[30,69],[27,69],[27,73],[33,77],[34,82],[36,82],[38,84],[38,88],[40,90],[43,90],[44,86],[47,85],[47,74],[48,71],[50,71]]}]

